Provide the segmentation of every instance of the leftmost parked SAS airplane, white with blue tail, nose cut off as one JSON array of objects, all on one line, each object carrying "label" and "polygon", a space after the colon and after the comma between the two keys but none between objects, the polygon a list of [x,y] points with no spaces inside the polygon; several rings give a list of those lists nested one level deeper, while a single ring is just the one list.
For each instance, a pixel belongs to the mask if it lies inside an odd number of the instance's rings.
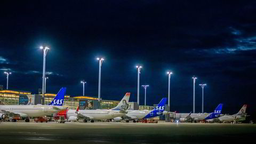
[{"label": "leftmost parked SAS airplane, white with blue tail, nose cut off", "polygon": [[62,87],[50,105],[6,105],[0,106],[0,117],[9,117],[10,121],[16,122],[17,119],[24,119],[29,122],[29,117],[40,117],[57,113],[59,110],[67,109],[62,107],[66,87]]}]

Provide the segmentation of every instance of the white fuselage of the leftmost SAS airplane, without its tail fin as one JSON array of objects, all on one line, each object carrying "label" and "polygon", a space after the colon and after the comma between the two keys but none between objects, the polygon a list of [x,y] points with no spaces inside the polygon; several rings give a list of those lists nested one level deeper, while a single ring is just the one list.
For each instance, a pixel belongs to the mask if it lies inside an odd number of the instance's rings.
[{"label": "white fuselage of the leftmost SAS airplane, without its tail fin", "polygon": [[[55,107],[55,109],[54,109]],[[7,111],[8,113],[19,114],[21,117],[39,117],[45,115],[51,115],[59,110],[66,109],[62,106],[47,106],[47,105],[9,105],[0,106],[0,113]]]}]

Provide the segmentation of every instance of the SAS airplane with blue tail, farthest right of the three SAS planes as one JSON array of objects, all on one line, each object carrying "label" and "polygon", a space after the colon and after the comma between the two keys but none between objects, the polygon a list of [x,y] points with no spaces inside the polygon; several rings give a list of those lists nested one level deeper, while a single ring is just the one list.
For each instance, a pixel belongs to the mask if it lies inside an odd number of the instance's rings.
[{"label": "SAS airplane with blue tail, farthest right of the three SAS planes", "polygon": [[177,113],[175,114],[175,121],[179,122],[197,122],[207,119],[213,119],[221,116],[222,103],[213,111],[213,113]]}]

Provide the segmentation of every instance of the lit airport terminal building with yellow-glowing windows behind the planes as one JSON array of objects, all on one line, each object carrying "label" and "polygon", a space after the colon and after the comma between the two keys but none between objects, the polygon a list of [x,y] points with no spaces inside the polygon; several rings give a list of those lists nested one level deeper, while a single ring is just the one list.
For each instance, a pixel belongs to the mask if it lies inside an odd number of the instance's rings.
[{"label": "lit airport terminal building with yellow-glowing windows behind the planes", "polygon": [[[51,103],[56,94],[45,93],[45,105]],[[37,105],[41,104],[42,94],[31,94],[29,91],[18,90],[0,90],[1,105]],[[89,96],[71,96],[65,95],[64,105],[69,109],[111,109],[118,105],[119,101],[116,100],[100,100],[98,98]],[[129,102],[131,110],[153,110],[153,106],[138,106],[137,102]]]}]

